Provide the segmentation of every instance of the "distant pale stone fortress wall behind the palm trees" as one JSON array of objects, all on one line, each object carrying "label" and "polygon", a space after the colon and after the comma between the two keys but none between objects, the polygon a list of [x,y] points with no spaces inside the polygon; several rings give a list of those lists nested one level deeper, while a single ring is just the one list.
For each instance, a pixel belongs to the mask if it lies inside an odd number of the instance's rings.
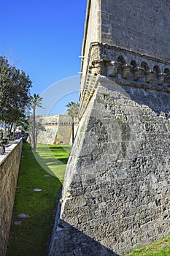
[{"label": "distant pale stone fortress wall behind the palm trees", "polygon": [[[37,143],[72,144],[72,117],[66,115],[36,116],[36,122],[45,128],[39,131]],[[74,135],[77,127],[78,121],[74,118]]]}]

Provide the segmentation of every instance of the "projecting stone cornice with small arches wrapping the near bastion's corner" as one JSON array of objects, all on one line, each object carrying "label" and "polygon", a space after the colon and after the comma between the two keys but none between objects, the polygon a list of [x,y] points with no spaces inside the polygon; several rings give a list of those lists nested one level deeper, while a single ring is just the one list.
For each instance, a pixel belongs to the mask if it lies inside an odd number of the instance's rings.
[{"label": "projecting stone cornice with small arches wrapping the near bastion's corner", "polygon": [[116,46],[93,42],[82,79],[80,117],[96,90],[96,77],[105,76],[122,86],[170,93],[170,63]]}]

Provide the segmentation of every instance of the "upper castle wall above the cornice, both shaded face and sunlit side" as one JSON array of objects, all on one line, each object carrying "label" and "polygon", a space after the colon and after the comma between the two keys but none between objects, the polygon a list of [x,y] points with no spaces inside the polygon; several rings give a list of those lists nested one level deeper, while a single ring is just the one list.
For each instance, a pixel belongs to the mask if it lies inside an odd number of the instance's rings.
[{"label": "upper castle wall above the cornice, both shaded face and sunlit side", "polygon": [[[169,62],[169,8],[167,0],[88,0],[80,96],[85,92],[90,58],[96,55],[95,42]],[[105,53],[108,55],[109,50]],[[95,64],[98,67],[100,61]],[[85,101],[88,99],[83,97],[81,102]]]}]

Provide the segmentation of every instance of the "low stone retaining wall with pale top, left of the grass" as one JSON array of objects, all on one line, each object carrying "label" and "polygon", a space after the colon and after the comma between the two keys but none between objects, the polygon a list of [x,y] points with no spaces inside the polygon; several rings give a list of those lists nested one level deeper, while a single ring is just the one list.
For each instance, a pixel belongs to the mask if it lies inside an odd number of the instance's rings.
[{"label": "low stone retaining wall with pale top, left of the grass", "polygon": [[7,249],[22,146],[23,140],[16,140],[0,155],[0,256]]}]

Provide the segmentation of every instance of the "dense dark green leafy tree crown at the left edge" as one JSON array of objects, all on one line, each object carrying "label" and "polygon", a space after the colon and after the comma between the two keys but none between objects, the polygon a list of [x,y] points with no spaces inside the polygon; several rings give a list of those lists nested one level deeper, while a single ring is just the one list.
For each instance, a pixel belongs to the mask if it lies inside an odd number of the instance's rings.
[{"label": "dense dark green leafy tree crown at the left edge", "polygon": [[17,123],[30,104],[31,80],[25,72],[12,67],[0,56],[0,119]]}]

